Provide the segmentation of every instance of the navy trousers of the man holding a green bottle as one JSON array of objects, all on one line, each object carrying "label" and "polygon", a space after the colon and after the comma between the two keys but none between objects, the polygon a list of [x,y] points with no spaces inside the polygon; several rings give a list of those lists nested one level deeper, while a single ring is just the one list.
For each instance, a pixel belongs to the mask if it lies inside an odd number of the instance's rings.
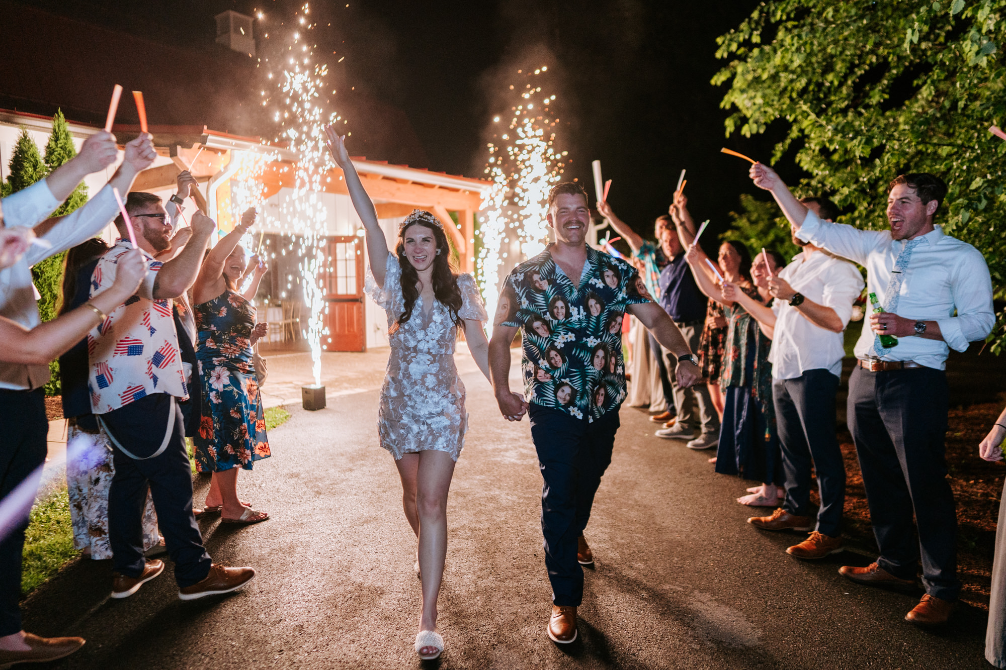
[{"label": "navy trousers of the man holding a green bottle", "polygon": [[[926,592],[957,600],[957,505],[947,482],[947,375],[918,367],[849,379],[848,423],[863,471],[877,563],[913,579],[921,549]],[[914,513],[918,541],[912,532]]]}]

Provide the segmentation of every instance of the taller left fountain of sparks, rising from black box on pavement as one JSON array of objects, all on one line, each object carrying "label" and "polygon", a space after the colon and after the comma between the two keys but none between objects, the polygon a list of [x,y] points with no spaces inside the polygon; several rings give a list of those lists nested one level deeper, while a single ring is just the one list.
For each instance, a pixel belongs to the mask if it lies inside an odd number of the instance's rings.
[{"label": "taller left fountain of sparks, rising from black box on pavement", "polygon": [[[286,278],[287,292],[292,293],[295,284],[300,285],[304,292],[307,312],[304,337],[311,347],[315,384],[321,385],[321,338],[328,333],[323,317],[326,305],[319,280],[325,269],[325,235],[328,231],[328,211],[322,202],[322,193],[335,167],[322,138],[325,127],[341,117],[327,112],[321,99],[322,92],[332,87],[325,81],[328,65],[313,61],[314,45],[310,31],[317,23],[311,19],[310,5],[304,4],[298,15],[298,29],[291,36],[285,55],[279,59],[276,68],[268,72],[266,80],[276,88],[273,92],[263,91],[261,97],[264,107],[275,105],[273,119],[282,128],[276,144],[286,144],[299,154],[296,165],[280,168],[293,171],[293,192],[289,197],[281,198],[279,220],[272,222],[270,227],[290,234],[287,248],[281,249],[283,255],[288,250],[295,253],[297,242],[294,235],[300,237],[300,276]],[[261,65],[270,68],[269,58],[266,61]],[[275,249],[272,258],[276,258]]]}]

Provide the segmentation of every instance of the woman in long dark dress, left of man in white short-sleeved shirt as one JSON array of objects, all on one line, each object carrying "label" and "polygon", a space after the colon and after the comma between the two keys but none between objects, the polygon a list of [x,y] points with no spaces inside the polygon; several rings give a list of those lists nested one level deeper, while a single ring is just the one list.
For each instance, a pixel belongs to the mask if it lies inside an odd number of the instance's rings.
[{"label": "woman in long dark dress, left of man in white short-sleeved shirt", "polygon": [[[724,242],[720,247],[721,259],[734,254],[742,259],[743,266],[750,264],[746,247],[739,242]],[[769,277],[776,271],[777,264],[782,265],[782,259],[778,255],[770,256],[773,265],[767,268],[765,257],[760,254],[749,266],[752,282],[739,284],[730,281],[731,275],[739,274],[729,272],[736,262],[732,258],[723,259],[721,263],[728,272],[724,273],[726,281],[717,287],[709,280],[709,274],[701,270],[706,259],[698,246],[692,244],[685,258],[699,288],[723,305],[727,320],[723,369],[719,377],[724,391],[724,429],[716,451],[716,472],[762,482],[752,490],[748,489],[749,495],[737,498],[737,502],[774,507],[779,498],[779,485],[784,480],[772,401],[771,340],[737,303],[737,294],[742,292],[763,304],[771,301]]]}]

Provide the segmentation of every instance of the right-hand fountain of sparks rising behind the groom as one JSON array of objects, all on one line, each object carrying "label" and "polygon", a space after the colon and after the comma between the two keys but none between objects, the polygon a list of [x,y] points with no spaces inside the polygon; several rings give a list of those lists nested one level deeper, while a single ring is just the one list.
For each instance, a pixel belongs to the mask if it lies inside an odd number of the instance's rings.
[{"label": "right-hand fountain of sparks rising behind the groom", "polygon": [[[549,110],[555,96],[543,95],[538,86],[547,70],[547,66],[533,72],[517,70],[523,87],[510,87],[519,96],[510,108],[510,122],[487,145],[485,172],[492,178],[493,188],[482,203],[485,213],[479,222],[482,248],[478,271],[489,314],[496,312],[500,268],[508,257],[502,249],[510,242],[509,235],[519,242],[518,263],[540,254],[548,243],[548,189],[562,174],[566,152],[552,147],[553,129],[559,121]],[[493,124],[502,126],[501,118],[493,117]]]}]

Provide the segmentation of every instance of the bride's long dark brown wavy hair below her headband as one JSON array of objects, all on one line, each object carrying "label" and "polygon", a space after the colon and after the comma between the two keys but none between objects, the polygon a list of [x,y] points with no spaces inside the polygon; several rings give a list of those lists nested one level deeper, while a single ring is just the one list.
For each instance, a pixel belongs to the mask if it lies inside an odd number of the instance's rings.
[{"label": "bride's long dark brown wavy hair below her headband", "polygon": [[451,263],[451,246],[447,240],[447,233],[434,214],[415,209],[401,222],[401,227],[398,228],[398,243],[394,248],[394,253],[398,256],[398,265],[401,266],[401,296],[404,299],[405,311],[398,317],[391,332],[411,318],[415,301],[420,297],[420,290],[415,287],[420,281],[418,273],[405,256],[405,233],[415,225],[430,228],[437,242],[433,271],[434,297],[447,306],[451,320],[464,330],[465,320],[458,316],[462,305],[461,289],[458,288],[458,274]]}]

